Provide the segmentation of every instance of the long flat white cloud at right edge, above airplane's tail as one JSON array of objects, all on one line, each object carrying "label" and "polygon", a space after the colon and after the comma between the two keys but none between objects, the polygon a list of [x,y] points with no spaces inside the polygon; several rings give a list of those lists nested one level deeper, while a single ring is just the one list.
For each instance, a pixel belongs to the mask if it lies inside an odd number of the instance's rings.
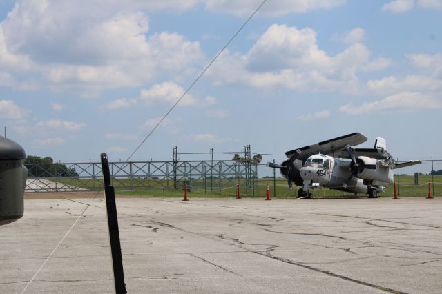
[{"label": "long flat white cloud at right edge, above airplane's tail", "polygon": [[366,102],[361,106],[346,104],[339,108],[347,115],[362,115],[378,112],[413,112],[418,110],[434,110],[442,107],[442,102],[419,92],[400,92],[386,97],[381,101]]}]

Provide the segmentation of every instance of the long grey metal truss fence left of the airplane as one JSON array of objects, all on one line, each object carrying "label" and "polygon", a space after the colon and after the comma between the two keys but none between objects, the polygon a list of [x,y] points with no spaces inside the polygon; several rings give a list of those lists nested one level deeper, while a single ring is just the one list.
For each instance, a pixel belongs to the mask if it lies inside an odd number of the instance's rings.
[{"label": "long grey metal truss fence left of the airplane", "polygon": [[[25,164],[28,181],[25,192],[77,192],[103,188],[99,162]],[[257,186],[256,164],[237,161],[131,161],[111,162],[112,185],[117,190],[151,188],[193,190],[207,193],[240,184],[244,193],[253,193]]]}]

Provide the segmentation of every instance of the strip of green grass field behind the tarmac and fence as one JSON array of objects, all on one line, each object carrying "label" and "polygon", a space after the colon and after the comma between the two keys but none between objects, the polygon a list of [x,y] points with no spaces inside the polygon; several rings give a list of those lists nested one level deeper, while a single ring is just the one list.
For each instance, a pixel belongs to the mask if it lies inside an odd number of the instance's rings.
[{"label": "strip of green grass field behind the tarmac and fence", "polygon": [[[419,185],[414,185],[414,177],[410,175],[401,175],[399,179],[395,176],[397,192],[399,197],[426,197],[428,194],[428,182],[432,181],[430,175],[422,175],[419,177]],[[57,182],[75,186],[76,188],[86,188],[89,190],[102,190],[102,179],[70,179],[59,178]],[[270,196],[272,198],[293,198],[295,197],[298,186],[294,187],[291,192],[287,187],[287,180],[283,178],[254,179],[256,188],[250,189],[247,193],[247,188],[244,185],[244,180],[240,182],[241,197],[265,197],[267,184],[269,184]],[[398,184],[397,184],[398,183]],[[113,186],[118,194],[122,195],[139,195],[139,196],[161,196],[161,197],[184,197],[183,184],[180,182],[178,190],[173,189],[173,181],[169,179],[155,181],[152,179],[133,179],[132,185],[130,179],[115,179]],[[132,189],[131,189],[132,186]],[[433,190],[434,188],[434,190]],[[318,190],[311,190],[311,193],[316,197],[342,197],[354,196],[352,193],[343,193],[338,190],[330,190],[327,188],[320,188]],[[213,191],[209,181],[204,182],[193,181],[189,183],[189,197],[236,197],[236,186],[233,181],[224,181],[220,187],[220,183],[216,182],[213,185]],[[393,185],[385,189],[385,193],[379,193],[379,197],[393,197]],[[363,195],[361,195],[363,196]],[[432,184],[432,196],[442,196],[442,176],[434,175],[434,184]]]}]

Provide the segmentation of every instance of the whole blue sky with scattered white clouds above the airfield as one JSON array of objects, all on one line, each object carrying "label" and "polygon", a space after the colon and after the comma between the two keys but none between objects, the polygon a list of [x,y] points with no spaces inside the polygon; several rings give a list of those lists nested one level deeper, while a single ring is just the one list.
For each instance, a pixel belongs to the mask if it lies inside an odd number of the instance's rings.
[{"label": "whole blue sky with scattered white clouds above the airfield", "polygon": [[[128,159],[261,2],[0,0],[1,135]],[[442,0],[267,0],[131,160],[278,162],[354,132],[442,159],[441,28]]]}]

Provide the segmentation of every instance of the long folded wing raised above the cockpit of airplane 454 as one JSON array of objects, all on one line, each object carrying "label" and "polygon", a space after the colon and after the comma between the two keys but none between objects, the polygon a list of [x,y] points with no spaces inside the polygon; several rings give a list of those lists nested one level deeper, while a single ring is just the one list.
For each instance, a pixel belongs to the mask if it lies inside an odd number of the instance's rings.
[{"label": "long folded wing raised above the cockpit of airplane 454", "polygon": [[287,155],[287,157],[290,158],[291,155],[293,155],[296,152],[296,150],[299,149],[301,153],[300,155],[298,155],[298,159],[302,161],[305,161],[310,155],[318,153],[334,156],[337,155],[341,150],[345,150],[345,146],[347,145],[356,146],[364,143],[367,140],[368,138],[361,133],[351,133],[334,139],[322,141],[319,142],[318,144],[305,146],[302,148],[296,148],[294,150],[287,151],[285,155]]}]

